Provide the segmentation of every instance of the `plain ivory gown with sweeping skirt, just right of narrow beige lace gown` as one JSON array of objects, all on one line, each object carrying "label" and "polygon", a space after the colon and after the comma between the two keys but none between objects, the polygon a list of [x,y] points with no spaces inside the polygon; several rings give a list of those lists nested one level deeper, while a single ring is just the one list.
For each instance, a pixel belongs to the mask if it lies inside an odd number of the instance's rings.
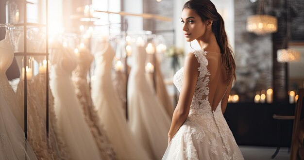
[{"label": "plain ivory gown with sweeping skirt, just right of narrow beige lace gown", "polygon": [[115,52],[107,42],[104,49],[95,54],[96,77],[92,98],[98,109],[118,160],[149,160],[147,153],[133,137],[123,115],[120,101],[113,88],[111,72]]}]

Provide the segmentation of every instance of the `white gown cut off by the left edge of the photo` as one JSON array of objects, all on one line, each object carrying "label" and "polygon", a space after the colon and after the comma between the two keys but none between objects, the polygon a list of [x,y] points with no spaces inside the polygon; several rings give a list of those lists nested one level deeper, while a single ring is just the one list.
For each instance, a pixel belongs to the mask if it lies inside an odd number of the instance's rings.
[{"label": "white gown cut off by the left edge of the photo", "polygon": [[[14,51],[10,42],[9,33],[0,41],[0,160],[37,160],[33,149],[24,136],[23,129],[17,119],[23,122],[22,112],[17,99],[10,87],[5,72],[11,65]],[[15,115],[11,111],[15,110]],[[17,113],[17,114],[16,114]],[[21,122],[21,123],[22,123]]]}]

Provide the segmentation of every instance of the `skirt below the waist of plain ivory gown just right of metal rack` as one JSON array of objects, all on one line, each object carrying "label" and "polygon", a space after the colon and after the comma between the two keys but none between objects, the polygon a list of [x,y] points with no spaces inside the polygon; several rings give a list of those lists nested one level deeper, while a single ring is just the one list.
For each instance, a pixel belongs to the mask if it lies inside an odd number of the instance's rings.
[{"label": "skirt below the waist of plain ivory gown just right of metal rack", "polygon": [[50,81],[59,134],[67,144],[72,160],[101,160],[98,146],[84,120],[81,104],[68,77],[53,77]]}]

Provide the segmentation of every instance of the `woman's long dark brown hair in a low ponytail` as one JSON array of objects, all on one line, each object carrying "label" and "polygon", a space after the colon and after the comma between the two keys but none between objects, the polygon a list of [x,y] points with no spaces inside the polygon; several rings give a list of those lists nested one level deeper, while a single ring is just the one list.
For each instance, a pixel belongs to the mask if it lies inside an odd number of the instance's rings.
[{"label": "woman's long dark brown hair in a low ponytail", "polygon": [[208,19],[213,21],[212,32],[215,34],[218,45],[220,46],[220,52],[223,54],[221,62],[228,73],[227,81],[236,81],[236,63],[233,51],[228,42],[224,20],[218,13],[215,5],[210,0],[189,0],[184,4],[183,10],[185,8],[194,10],[201,17],[203,22]]}]

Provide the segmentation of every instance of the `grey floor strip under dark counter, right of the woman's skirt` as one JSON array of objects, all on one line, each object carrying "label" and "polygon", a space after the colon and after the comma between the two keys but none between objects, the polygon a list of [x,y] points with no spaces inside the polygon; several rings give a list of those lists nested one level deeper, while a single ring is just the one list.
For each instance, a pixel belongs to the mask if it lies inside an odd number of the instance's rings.
[{"label": "grey floor strip under dark counter, right of the woman's skirt", "polygon": [[[262,147],[262,146],[239,146],[245,160],[271,160],[272,154],[276,147]],[[289,160],[289,153],[287,147],[280,148],[278,155],[273,160]]]}]

